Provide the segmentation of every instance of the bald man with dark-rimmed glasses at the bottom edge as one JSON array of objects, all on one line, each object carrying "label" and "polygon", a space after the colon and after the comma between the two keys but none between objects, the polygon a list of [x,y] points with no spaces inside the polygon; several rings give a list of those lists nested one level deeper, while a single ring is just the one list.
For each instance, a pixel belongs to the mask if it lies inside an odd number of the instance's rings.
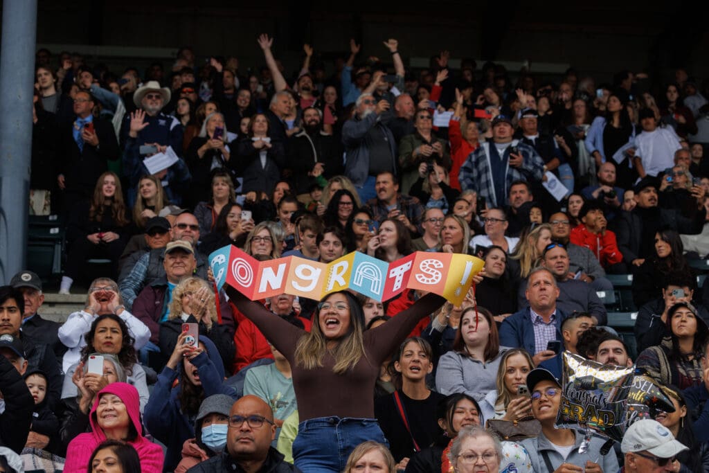
[{"label": "bald man with dark-rimmed glasses at the bottom edge", "polygon": [[231,406],[227,451],[196,464],[188,473],[300,472],[271,447],[276,425],[271,407],[257,396],[244,396]]}]

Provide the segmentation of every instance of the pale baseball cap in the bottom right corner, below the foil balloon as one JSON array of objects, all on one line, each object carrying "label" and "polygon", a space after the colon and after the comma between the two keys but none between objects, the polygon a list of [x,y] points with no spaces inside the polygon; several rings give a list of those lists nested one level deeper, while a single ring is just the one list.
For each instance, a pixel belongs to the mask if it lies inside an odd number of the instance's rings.
[{"label": "pale baseball cap in the bottom right corner, below the foil balloon", "polygon": [[675,440],[674,435],[661,423],[652,419],[641,419],[627,428],[623,442],[620,443],[620,450],[623,453],[644,451],[656,457],[671,458],[689,449]]}]

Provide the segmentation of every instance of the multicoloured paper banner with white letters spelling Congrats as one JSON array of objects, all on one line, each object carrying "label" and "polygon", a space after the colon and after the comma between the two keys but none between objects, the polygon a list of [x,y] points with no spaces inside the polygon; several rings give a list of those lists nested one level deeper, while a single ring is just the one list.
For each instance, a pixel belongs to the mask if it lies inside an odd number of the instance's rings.
[{"label": "multicoloured paper banner with white letters spelling Congrats", "polygon": [[209,255],[217,288],[228,284],[252,301],[284,293],[318,301],[344,289],[388,301],[410,288],[439,294],[459,305],[484,264],[474,256],[424,251],[392,263],[362,252],[328,264],[296,256],[259,261],[233,245]]}]

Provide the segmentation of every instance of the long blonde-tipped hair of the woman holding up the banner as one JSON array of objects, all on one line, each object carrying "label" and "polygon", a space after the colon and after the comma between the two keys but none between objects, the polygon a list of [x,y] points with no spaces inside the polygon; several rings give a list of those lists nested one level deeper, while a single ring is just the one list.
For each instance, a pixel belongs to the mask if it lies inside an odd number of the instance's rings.
[{"label": "long blonde-tipped hair of the woman holding up the banner", "polygon": [[[357,365],[362,357],[367,357],[364,352],[364,312],[357,299],[347,291],[335,292],[333,294],[343,294],[347,298],[347,305],[350,306],[350,333],[347,333],[337,343],[335,348],[335,366],[333,372],[345,374]],[[330,299],[333,294],[328,294],[321,302]],[[315,369],[323,366],[323,357],[328,352],[328,340],[320,331],[320,307],[315,313],[313,327],[309,333],[304,333],[298,339],[296,345],[296,364],[305,369]]]}]

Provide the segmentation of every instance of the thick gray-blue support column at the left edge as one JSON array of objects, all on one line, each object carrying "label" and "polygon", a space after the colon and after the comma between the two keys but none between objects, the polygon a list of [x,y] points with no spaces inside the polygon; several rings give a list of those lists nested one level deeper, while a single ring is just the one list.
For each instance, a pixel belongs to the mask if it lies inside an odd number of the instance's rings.
[{"label": "thick gray-blue support column at the left edge", "polygon": [[2,2],[0,284],[26,261],[37,0]]}]

